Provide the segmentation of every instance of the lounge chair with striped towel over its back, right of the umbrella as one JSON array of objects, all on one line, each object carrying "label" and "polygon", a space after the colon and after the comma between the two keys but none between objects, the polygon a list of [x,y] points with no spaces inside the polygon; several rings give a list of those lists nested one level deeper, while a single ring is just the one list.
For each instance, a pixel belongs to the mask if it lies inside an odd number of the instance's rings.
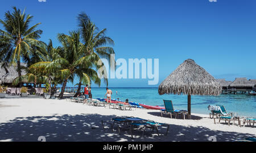
[{"label": "lounge chair with striped towel over its back, right of the umbrella", "polygon": [[216,115],[216,117],[220,117],[220,116],[232,116],[234,114],[232,112],[228,113],[224,105],[209,105],[208,110],[210,111],[210,116],[212,115],[212,118],[214,117],[214,115]]}]

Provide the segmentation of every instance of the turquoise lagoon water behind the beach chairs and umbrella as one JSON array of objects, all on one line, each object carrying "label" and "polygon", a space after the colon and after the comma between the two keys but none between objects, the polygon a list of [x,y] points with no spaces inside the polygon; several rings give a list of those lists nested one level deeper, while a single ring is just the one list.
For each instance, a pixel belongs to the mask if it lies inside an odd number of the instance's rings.
[{"label": "turquoise lagoon water behind the beach chairs and umbrella", "polygon": [[[163,105],[164,100],[172,100],[175,109],[187,110],[187,96],[165,94],[160,96],[158,88],[110,88],[112,98],[139,102],[146,105]],[[116,94],[117,91],[117,94]],[[93,98],[104,98],[105,88],[92,88]],[[256,117],[256,96],[241,94],[221,94],[220,96],[191,96],[191,111],[198,114],[209,114],[208,105],[224,105],[227,111],[247,117]]]}]

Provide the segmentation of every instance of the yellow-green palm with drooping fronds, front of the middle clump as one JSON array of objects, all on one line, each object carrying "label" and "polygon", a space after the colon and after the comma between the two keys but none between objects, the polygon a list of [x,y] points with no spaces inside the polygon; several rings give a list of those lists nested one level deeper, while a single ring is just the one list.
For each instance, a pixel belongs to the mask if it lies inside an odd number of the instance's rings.
[{"label": "yellow-green palm with drooping fronds, front of the middle clump", "polygon": [[52,61],[44,61],[31,65],[31,68],[46,69],[48,72],[55,73],[56,77],[63,81],[59,98],[63,98],[65,86],[68,81],[73,82],[75,75],[80,77],[83,84],[90,84],[94,81],[100,84],[97,72],[90,68],[91,56],[84,55],[84,45],[80,42],[80,31],[71,31],[69,35],[58,34],[57,38],[63,47],[57,49],[58,56]]}]

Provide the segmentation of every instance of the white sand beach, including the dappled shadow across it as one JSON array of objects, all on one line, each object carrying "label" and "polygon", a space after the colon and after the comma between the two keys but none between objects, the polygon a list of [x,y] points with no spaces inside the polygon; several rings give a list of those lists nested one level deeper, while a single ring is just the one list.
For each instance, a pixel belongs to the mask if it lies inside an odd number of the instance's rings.
[{"label": "white sand beach, including the dappled shadow across it", "polygon": [[[123,116],[166,123],[170,125],[168,135],[163,135],[164,127],[159,130],[160,136],[148,130],[141,138],[142,132],[138,131],[135,139],[131,139],[129,131],[112,132],[108,121]],[[102,128],[102,120],[106,129]],[[46,137],[46,141],[209,141],[211,136],[217,141],[233,141],[255,137],[256,128],[228,126],[224,121],[214,125],[213,119],[205,114],[192,114],[191,120],[183,120],[161,117],[159,110],[117,110],[43,98],[0,100],[1,141],[38,141],[39,136]]]}]

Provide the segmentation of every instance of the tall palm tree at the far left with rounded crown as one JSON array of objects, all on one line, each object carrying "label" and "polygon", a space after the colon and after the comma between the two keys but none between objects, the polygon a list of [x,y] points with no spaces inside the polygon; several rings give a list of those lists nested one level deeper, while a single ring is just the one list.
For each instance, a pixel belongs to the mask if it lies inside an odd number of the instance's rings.
[{"label": "tall palm tree at the far left with rounded crown", "polygon": [[0,23],[5,28],[5,31],[0,29],[0,32],[3,35],[3,39],[7,40],[6,42],[10,44],[9,49],[5,48],[0,56],[6,63],[11,63],[11,65],[14,63],[17,64],[19,83],[21,83],[20,60],[22,60],[24,56],[30,55],[31,46],[39,43],[37,39],[40,38],[43,31],[36,30],[36,27],[38,27],[40,23],[32,27],[29,26],[33,16],[26,15],[24,11],[22,13],[22,11],[16,9],[16,7],[13,7],[13,9],[13,13],[10,13],[10,11],[5,13],[5,20],[0,19]]}]

